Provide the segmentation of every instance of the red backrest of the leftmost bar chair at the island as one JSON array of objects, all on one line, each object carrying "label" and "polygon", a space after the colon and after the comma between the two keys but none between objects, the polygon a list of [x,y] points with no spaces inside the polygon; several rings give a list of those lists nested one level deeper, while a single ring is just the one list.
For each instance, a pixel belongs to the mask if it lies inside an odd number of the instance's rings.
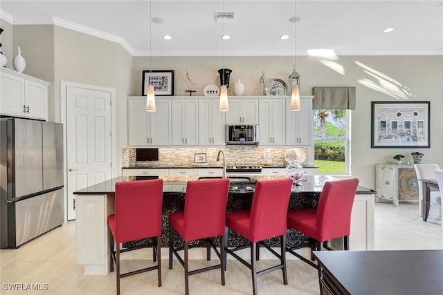
[{"label": "red backrest of the leftmost bar chair at the island", "polygon": [[117,243],[161,235],[163,179],[116,183]]}]

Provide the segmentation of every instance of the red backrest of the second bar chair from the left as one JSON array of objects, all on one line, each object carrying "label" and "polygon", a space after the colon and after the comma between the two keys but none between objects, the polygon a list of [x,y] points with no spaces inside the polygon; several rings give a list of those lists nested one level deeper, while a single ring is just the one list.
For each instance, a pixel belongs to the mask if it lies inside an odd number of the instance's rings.
[{"label": "red backrest of the second bar chair from the left", "polygon": [[185,197],[185,240],[224,234],[229,179],[188,181]]}]

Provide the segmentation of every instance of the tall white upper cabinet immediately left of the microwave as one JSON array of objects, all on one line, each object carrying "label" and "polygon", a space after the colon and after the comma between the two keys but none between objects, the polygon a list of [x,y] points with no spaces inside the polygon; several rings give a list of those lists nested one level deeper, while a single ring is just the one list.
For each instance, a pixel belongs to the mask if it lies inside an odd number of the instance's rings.
[{"label": "tall white upper cabinet immediately left of the microwave", "polygon": [[219,99],[199,99],[199,145],[225,143],[225,112],[219,111]]}]

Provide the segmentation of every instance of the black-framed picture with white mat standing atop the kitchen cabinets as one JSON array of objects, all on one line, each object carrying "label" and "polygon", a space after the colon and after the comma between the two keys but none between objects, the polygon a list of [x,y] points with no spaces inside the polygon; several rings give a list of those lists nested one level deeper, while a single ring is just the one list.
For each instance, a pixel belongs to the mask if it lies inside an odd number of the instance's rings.
[{"label": "black-framed picture with white mat standing atop the kitchen cabinets", "polygon": [[147,86],[154,86],[155,95],[174,95],[174,70],[143,70],[141,95],[147,94]]}]

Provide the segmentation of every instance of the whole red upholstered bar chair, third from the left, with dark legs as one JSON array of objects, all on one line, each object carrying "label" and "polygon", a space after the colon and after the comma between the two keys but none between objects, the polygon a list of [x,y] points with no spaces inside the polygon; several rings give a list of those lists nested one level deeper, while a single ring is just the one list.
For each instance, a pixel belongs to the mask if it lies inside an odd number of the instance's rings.
[{"label": "whole red upholstered bar chair, third from the left, with dark legs", "polygon": [[[226,253],[234,256],[246,265],[252,272],[253,294],[257,294],[257,276],[273,270],[282,269],[283,283],[287,285],[286,272],[286,216],[288,211],[289,197],[291,196],[292,180],[289,178],[278,180],[259,180],[255,187],[250,210],[242,210],[226,214],[226,240],[224,260]],[[246,246],[228,249],[228,228],[240,236],[247,238],[250,243]],[[280,237],[280,254],[264,244],[263,240]],[[280,264],[269,269],[257,272],[256,260],[258,256],[257,244],[269,249],[272,254],[280,259]],[[235,251],[251,247],[251,264],[235,254]]]}]

